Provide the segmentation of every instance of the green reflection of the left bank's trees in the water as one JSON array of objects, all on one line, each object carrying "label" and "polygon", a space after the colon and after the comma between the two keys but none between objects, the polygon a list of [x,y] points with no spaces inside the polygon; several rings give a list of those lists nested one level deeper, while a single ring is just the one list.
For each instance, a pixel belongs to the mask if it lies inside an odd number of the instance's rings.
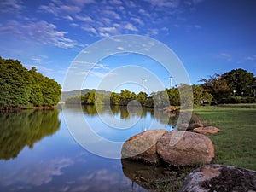
[{"label": "green reflection of the left bank's trees in the water", "polygon": [[0,159],[9,160],[45,136],[54,134],[61,125],[58,110],[26,110],[0,113]]}]

